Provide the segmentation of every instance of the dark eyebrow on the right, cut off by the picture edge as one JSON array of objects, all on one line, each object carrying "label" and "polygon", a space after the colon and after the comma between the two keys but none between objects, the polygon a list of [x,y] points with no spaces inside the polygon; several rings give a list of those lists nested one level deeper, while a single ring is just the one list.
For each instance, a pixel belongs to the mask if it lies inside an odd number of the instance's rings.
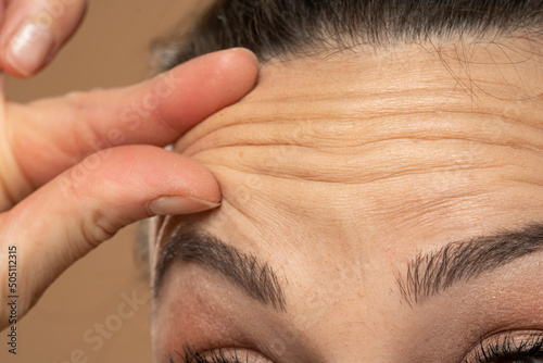
[{"label": "dark eyebrow on the right, cut off by the picture edge", "polygon": [[396,280],[404,300],[413,306],[457,283],[467,283],[538,251],[543,251],[543,224],[502,229],[419,253],[407,264],[406,274],[399,274]]}]

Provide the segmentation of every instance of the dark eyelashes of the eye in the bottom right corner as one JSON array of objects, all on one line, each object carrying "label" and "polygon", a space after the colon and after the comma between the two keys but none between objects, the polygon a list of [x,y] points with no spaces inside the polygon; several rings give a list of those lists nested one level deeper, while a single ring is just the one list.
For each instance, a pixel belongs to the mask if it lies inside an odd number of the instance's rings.
[{"label": "dark eyelashes of the eye in the bottom right corner", "polygon": [[[482,339],[479,351],[472,360],[463,363],[507,363],[523,362],[531,359],[543,359],[543,334],[518,341],[510,335],[496,338],[490,343]],[[529,361],[526,361],[529,362]]]}]

